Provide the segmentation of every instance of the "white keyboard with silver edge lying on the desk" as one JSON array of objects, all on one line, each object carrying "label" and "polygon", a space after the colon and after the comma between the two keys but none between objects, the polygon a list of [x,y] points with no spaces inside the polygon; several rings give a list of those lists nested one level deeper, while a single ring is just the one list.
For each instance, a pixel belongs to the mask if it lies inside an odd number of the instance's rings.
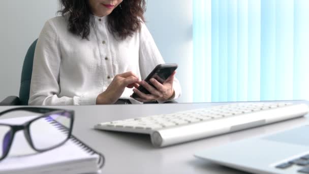
[{"label": "white keyboard with silver edge lying on the desk", "polygon": [[150,134],[154,147],[164,147],[302,117],[308,110],[306,104],[233,103],[170,114],[100,123],[95,125],[95,128]]}]

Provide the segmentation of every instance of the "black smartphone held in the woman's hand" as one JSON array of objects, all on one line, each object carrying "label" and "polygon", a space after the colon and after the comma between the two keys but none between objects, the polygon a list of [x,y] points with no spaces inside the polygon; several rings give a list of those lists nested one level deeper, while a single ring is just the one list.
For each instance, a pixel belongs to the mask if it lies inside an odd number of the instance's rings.
[{"label": "black smartphone held in the woman's hand", "polygon": [[[150,74],[146,77],[145,81],[148,84],[150,84],[153,88],[156,88],[150,82],[150,79],[154,78],[162,84],[166,79],[168,79],[169,76],[172,75],[172,73],[177,69],[177,67],[178,67],[177,64],[160,64],[160,65],[157,65],[157,67],[154,68],[150,72]],[[137,89],[144,94],[150,94],[149,91],[146,90],[142,85],[138,86]],[[136,93],[133,93],[132,97],[138,98],[138,95]]]}]

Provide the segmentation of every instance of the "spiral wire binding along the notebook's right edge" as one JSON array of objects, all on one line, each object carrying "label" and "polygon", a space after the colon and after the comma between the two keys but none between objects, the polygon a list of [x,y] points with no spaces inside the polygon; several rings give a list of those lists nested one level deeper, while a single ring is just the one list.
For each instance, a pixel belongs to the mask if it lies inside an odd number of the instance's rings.
[{"label": "spiral wire binding along the notebook's right edge", "polygon": [[[60,130],[61,132],[64,133],[69,133],[69,130],[67,127],[59,124],[58,122],[56,122],[55,120],[52,119],[48,119],[46,118],[46,121],[48,121],[50,124],[52,124],[53,126],[55,126],[58,130]],[[72,135],[70,136],[70,139],[77,144],[79,147],[81,147],[83,150],[85,150],[87,153],[94,155],[97,154],[99,155],[99,160],[98,160],[98,166],[99,168],[102,168],[105,164],[105,157],[103,154],[99,153],[98,151],[95,151],[94,149],[90,148],[86,143],[84,143],[83,141],[81,141],[80,139],[78,139],[76,136]]]}]

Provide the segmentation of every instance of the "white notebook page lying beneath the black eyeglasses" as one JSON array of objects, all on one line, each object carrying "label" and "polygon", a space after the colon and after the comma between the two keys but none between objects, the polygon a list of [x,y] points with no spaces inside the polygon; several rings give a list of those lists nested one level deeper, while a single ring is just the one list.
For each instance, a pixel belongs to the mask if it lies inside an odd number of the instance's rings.
[{"label": "white notebook page lying beneath the black eyeglasses", "polygon": [[[31,120],[33,118],[34,117],[5,119],[0,120],[0,123],[22,124],[25,121]],[[42,136],[44,135],[45,131],[58,130],[53,129],[50,126],[43,125]],[[0,173],[4,171],[20,169],[27,170],[33,168],[47,168],[48,166],[57,167],[59,165],[68,165],[71,163],[74,164],[75,162],[82,163],[83,161],[97,161],[98,159],[98,155],[90,155],[80,146],[75,144],[75,142],[73,142],[71,139],[59,148],[46,151],[44,153],[34,152],[35,151],[33,151],[26,142],[23,132],[17,132],[14,137],[9,156],[0,162]],[[96,165],[97,163],[94,162],[94,164]],[[97,170],[97,168],[95,169]]]}]

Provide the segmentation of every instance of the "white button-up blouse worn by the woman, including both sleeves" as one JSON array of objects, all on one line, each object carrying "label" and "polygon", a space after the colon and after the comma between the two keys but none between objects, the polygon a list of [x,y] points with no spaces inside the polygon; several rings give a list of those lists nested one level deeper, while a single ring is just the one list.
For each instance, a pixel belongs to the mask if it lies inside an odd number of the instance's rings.
[{"label": "white button-up blouse worn by the woman, including both sleeves", "polygon": [[[89,40],[68,30],[66,17],[49,19],[39,36],[30,84],[29,105],[94,105],[117,74],[132,71],[145,79],[164,60],[146,25],[125,40],[108,30],[107,16],[91,15]],[[174,78],[175,99],[181,94]],[[132,98],[126,88],[121,99]]]}]

